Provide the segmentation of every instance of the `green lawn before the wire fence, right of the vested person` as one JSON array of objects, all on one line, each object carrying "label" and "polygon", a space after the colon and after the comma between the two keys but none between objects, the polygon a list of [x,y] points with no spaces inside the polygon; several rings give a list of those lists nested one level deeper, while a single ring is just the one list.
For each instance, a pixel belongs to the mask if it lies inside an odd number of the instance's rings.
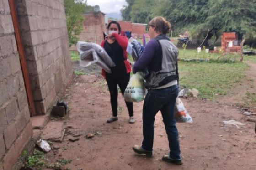
[{"label": "green lawn before the wire fence, right of the vested person", "polygon": [[180,84],[197,88],[198,98],[214,100],[240,82],[248,65],[242,62],[179,62]]}]

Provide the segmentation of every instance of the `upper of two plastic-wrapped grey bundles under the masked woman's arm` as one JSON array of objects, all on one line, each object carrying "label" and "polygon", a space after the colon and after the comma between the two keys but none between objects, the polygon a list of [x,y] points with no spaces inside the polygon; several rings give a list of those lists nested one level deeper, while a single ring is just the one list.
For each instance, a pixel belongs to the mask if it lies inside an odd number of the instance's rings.
[{"label": "upper of two plastic-wrapped grey bundles under the masked woman's arm", "polygon": [[78,52],[80,52],[80,54],[83,52],[86,52],[90,49],[94,49],[95,52],[98,54],[98,57],[101,59],[101,61],[104,62],[108,67],[115,66],[115,63],[108,56],[108,54],[104,50],[104,48],[102,48],[100,45],[98,45],[96,43],[78,41],[76,47],[77,47]]}]

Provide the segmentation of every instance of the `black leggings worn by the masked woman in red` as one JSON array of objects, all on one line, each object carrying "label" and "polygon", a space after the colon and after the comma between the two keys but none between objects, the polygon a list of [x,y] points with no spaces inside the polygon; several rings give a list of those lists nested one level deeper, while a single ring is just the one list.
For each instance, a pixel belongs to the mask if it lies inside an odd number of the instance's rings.
[{"label": "black leggings worn by the masked woman in red", "polygon": [[[112,114],[114,117],[116,117],[117,116],[117,96],[118,96],[117,84],[123,95],[125,88],[130,80],[130,73],[118,75],[118,76],[107,74],[106,80],[107,80],[107,86],[110,93],[110,103],[112,108]],[[133,103],[125,102],[125,104],[128,108],[129,116],[133,116]]]}]

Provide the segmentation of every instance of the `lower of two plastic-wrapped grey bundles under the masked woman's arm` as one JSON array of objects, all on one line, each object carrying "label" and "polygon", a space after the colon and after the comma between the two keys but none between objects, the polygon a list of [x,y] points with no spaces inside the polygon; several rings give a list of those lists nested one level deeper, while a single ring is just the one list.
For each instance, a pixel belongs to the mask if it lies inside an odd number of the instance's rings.
[{"label": "lower of two plastic-wrapped grey bundles under the masked woman's arm", "polygon": [[91,64],[96,63],[101,68],[103,68],[106,72],[111,73],[110,68],[107,64],[101,60],[94,49],[89,49],[85,52],[80,53],[80,66],[86,67]]}]

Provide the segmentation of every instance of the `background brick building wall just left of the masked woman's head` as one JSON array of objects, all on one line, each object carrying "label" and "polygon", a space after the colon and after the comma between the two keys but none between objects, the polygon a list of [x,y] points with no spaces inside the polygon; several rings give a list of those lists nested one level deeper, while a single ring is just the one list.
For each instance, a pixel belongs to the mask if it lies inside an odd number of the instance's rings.
[{"label": "background brick building wall just left of the masked woman's head", "polygon": [[106,30],[105,14],[99,11],[87,13],[84,15],[84,29],[79,36],[80,41],[101,44],[101,41],[103,40],[103,32]]}]

